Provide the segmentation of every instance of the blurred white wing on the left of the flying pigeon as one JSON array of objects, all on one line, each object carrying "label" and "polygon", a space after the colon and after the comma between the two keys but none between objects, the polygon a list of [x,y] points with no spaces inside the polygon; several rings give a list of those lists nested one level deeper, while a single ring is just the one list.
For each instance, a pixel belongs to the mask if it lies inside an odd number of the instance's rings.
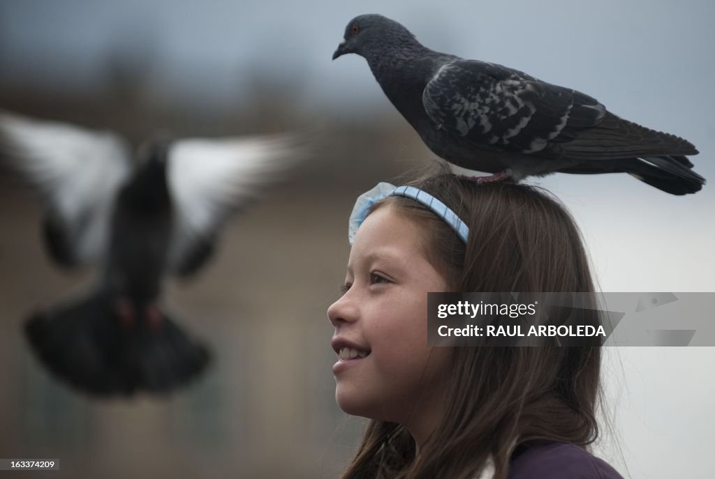
[{"label": "blurred white wing on the left of the flying pigeon", "polygon": [[114,194],[132,171],[122,138],[0,111],[0,147],[9,165],[44,198],[53,257],[57,259],[53,248],[61,243],[71,256],[71,261],[61,261],[64,266],[102,258]]}]

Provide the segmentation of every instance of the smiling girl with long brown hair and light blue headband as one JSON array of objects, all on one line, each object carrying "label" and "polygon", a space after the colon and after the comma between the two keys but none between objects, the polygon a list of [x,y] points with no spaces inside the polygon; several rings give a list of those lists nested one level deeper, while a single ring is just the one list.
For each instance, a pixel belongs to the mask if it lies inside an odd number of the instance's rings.
[{"label": "smiling girl with long brown hair and light blue headband", "polygon": [[430,347],[427,293],[593,292],[573,219],[538,189],[440,173],[358,198],[327,310],[337,404],[372,419],[343,476],[621,478],[598,435],[596,347]]}]

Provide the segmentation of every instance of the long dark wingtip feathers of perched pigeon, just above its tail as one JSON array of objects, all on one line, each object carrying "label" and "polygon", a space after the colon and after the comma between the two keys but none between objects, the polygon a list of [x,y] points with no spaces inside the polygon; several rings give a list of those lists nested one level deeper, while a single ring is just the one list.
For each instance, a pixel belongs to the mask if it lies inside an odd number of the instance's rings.
[{"label": "long dark wingtip feathers of perched pigeon, just above its tail", "polygon": [[638,156],[671,156],[685,166],[692,166],[684,155],[698,154],[697,148],[684,138],[651,130],[632,121],[606,113],[601,123],[578,133],[555,148],[574,160],[618,159]]}]

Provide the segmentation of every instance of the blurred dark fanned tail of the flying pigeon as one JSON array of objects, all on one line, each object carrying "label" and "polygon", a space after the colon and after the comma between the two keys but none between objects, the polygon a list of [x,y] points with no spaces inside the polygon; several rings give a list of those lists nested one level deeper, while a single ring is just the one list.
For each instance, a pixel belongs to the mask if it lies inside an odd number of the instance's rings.
[{"label": "blurred dark fanned tail of the flying pigeon", "polygon": [[46,368],[93,395],[166,393],[209,362],[207,349],[163,313],[153,326],[142,318],[127,324],[104,293],[36,313],[25,333]]}]

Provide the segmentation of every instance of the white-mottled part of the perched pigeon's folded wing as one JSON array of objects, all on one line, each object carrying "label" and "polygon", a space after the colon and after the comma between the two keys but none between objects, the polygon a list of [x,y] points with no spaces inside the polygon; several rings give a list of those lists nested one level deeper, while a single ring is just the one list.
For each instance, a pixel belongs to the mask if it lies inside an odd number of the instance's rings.
[{"label": "white-mottled part of the perched pigeon's folded wing", "polygon": [[597,125],[606,108],[576,90],[475,60],[444,64],[423,91],[437,128],[478,146],[542,151]]}]

